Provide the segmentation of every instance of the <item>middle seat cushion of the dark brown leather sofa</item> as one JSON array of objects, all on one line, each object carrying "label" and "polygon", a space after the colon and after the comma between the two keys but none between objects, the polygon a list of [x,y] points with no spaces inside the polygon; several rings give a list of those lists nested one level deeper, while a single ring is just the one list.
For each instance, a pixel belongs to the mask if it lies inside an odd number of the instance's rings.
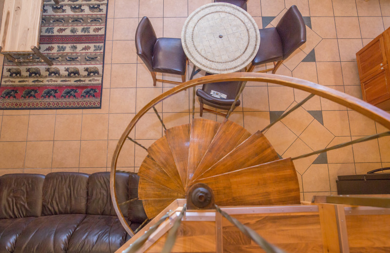
[{"label": "middle seat cushion of the dark brown leather sofa", "polygon": [[71,235],[86,215],[42,216],[19,236],[16,253],[66,253]]}]

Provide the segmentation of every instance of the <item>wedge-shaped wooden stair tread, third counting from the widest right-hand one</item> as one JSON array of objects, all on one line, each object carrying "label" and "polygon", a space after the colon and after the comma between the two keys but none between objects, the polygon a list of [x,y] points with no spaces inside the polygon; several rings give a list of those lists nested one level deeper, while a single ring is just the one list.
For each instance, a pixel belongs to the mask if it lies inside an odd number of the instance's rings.
[{"label": "wedge-shaped wooden stair tread, third counting from the widest right-hand one", "polygon": [[251,134],[244,127],[241,127],[233,121],[225,120],[215,134],[199,166],[196,168],[191,181],[197,179],[203,172],[208,170],[250,136]]}]

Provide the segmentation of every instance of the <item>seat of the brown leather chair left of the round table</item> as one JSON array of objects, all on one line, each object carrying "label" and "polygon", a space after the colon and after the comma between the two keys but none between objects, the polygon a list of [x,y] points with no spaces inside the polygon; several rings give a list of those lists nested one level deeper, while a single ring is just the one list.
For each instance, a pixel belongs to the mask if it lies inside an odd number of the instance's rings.
[{"label": "seat of the brown leather chair left of the round table", "polygon": [[186,55],[179,38],[157,38],[153,50],[153,71],[183,75]]}]

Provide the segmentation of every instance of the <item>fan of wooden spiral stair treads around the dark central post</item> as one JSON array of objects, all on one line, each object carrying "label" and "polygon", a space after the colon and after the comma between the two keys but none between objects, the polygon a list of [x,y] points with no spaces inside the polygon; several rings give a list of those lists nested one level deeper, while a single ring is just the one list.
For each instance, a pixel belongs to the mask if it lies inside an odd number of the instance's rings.
[{"label": "fan of wooden spiral stair treads around the dark central post", "polygon": [[299,185],[291,159],[279,160],[267,138],[232,121],[194,119],[169,128],[148,148],[139,167],[138,198],[149,218],[195,183],[206,183],[215,204],[299,204]]}]

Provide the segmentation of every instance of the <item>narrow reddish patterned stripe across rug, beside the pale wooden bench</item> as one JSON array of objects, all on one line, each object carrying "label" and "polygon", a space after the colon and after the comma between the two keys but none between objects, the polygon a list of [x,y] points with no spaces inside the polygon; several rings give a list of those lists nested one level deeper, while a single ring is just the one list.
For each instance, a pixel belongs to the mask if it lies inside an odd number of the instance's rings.
[{"label": "narrow reddish patterned stripe across rug, beside the pale wooden bench", "polygon": [[103,43],[104,35],[46,35],[40,36],[39,44]]}]

